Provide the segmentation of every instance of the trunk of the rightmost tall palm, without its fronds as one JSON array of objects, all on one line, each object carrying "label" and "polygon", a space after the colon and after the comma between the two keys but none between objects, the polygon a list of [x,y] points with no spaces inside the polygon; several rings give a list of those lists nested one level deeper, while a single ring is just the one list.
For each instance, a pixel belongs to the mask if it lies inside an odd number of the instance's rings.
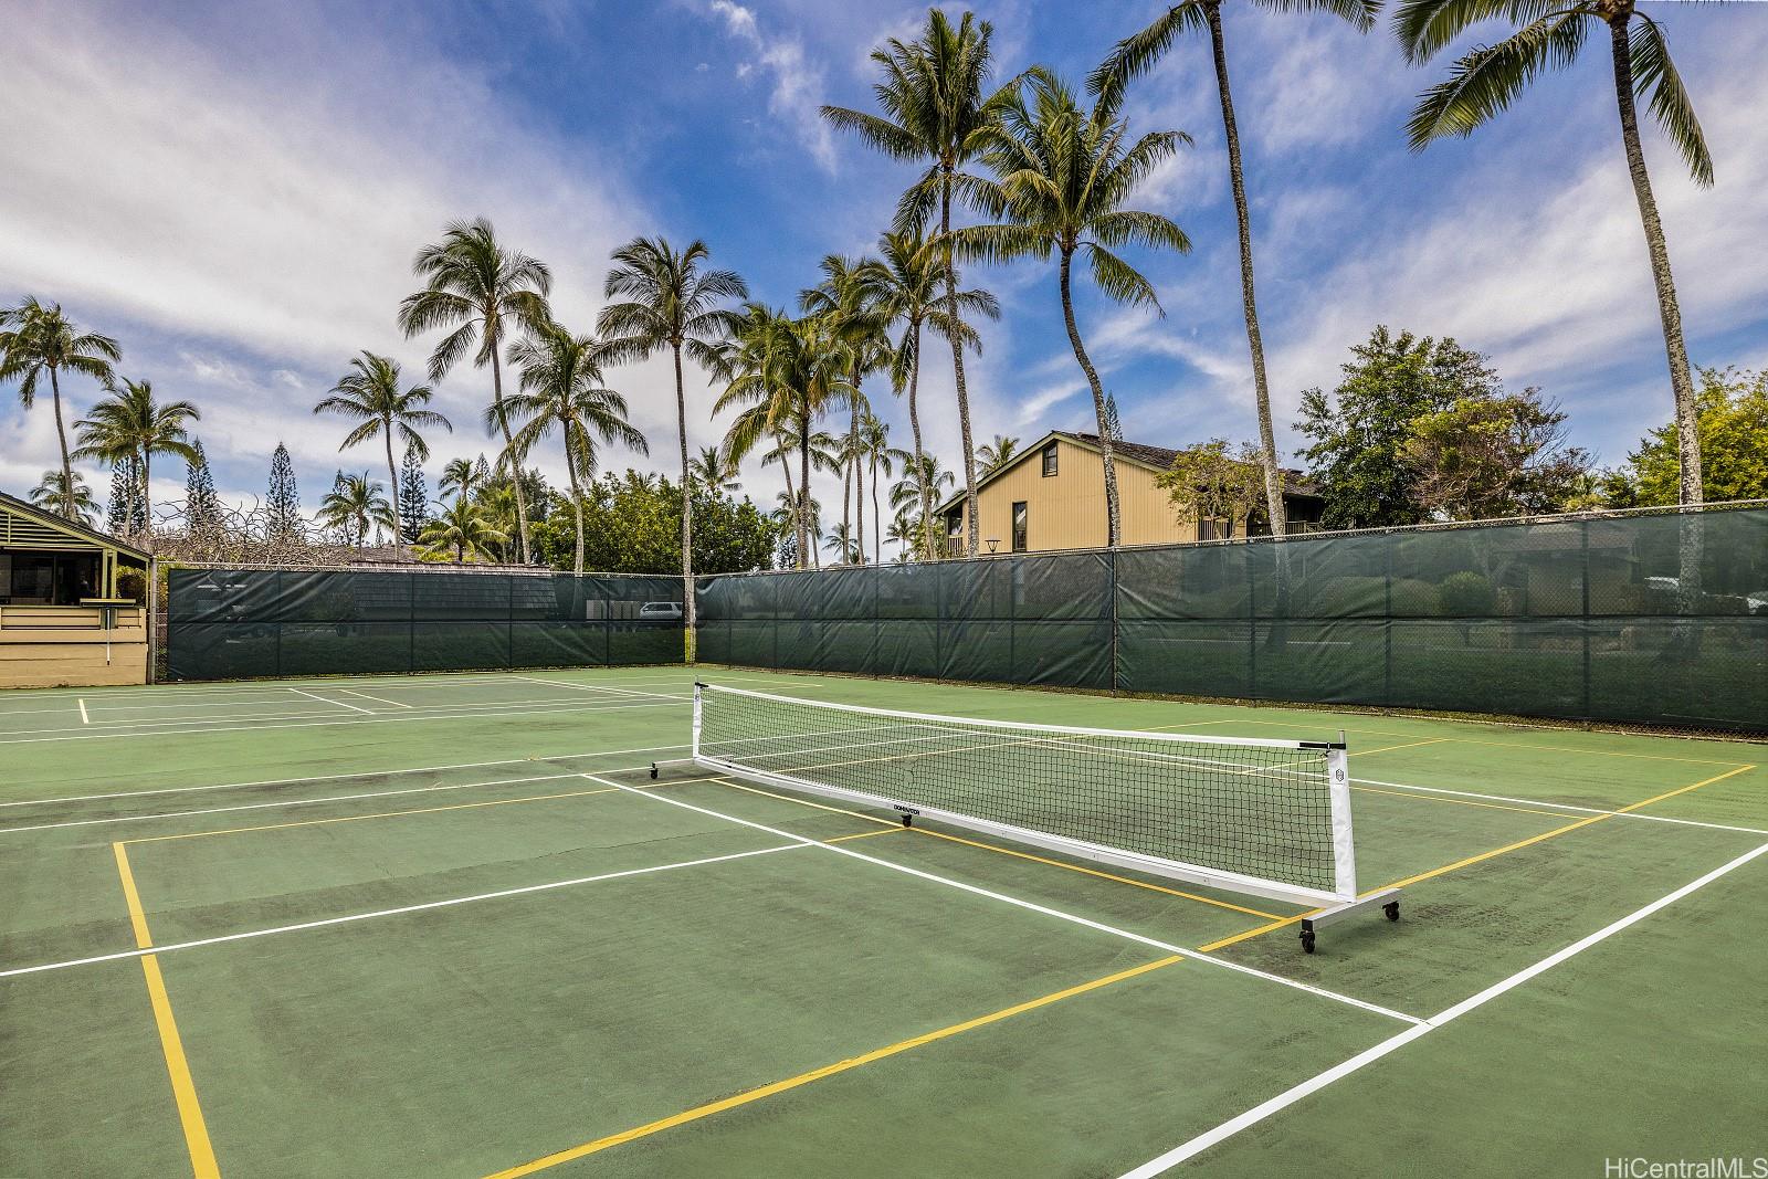
[{"label": "trunk of the rightmost tall palm, without its fronds", "polygon": [[[1621,143],[1627,147],[1627,171],[1634,180],[1634,200],[1639,202],[1639,221],[1646,232],[1646,253],[1651,255],[1651,279],[1657,283],[1658,318],[1664,323],[1664,352],[1669,355],[1669,387],[1676,396],[1676,458],[1680,463],[1680,500],[1699,504],[1701,486],[1701,414],[1694,401],[1694,378],[1688,373],[1688,346],[1681,339],[1681,308],[1676,302],[1676,279],[1669,272],[1669,244],[1664,240],[1664,223],[1658,219],[1657,198],[1651,194],[1651,173],[1646,171],[1646,154],[1639,147],[1639,113],[1634,108],[1634,58],[1627,42],[1627,25],[1632,5],[1609,23],[1609,48],[1614,57],[1614,101],[1621,113]],[[1701,521],[1683,516],[1681,551],[1676,578],[1680,613],[1694,613],[1701,594]],[[1680,628],[1678,628],[1680,629]],[[1692,631],[1685,633],[1687,638]]]}]

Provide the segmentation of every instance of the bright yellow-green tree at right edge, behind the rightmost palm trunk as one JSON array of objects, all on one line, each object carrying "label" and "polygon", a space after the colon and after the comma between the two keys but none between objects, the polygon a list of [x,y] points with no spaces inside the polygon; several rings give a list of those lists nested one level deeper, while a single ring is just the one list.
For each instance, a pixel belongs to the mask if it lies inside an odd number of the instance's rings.
[{"label": "bright yellow-green tree at right edge, behind the rightmost palm trunk", "polygon": [[[1701,498],[1768,498],[1768,369],[1699,369]],[[1676,422],[1648,433],[1612,472],[1611,507],[1676,504],[1681,493]]]}]

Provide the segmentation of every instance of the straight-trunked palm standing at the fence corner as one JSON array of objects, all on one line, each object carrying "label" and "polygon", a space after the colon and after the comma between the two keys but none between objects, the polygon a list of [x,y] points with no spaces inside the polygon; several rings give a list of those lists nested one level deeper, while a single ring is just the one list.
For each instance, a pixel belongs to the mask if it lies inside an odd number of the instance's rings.
[{"label": "straight-trunked palm standing at the fence corner", "polygon": [[610,336],[610,354],[622,361],[642,361],[668,348],[675,361],[675,424],[681,444],[681,576],[688,590],[688,661],[693,661],[693,470],[688,468],[688,391],[682,384],[681,357],[705,369],[718,369],[720,341],[727,339],[741,318],[725,304],[748,299],[750,288],[735,270],[704,269],[711,251],[693,240],[677,251],[665,239],[635,237],[613,251],[603,293],[610,302],[601,309],[596,331]]}]

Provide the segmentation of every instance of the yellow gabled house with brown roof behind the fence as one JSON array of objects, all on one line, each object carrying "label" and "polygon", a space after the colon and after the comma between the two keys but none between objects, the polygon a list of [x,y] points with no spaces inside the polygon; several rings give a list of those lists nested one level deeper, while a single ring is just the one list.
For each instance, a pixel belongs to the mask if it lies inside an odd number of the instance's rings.
[{"label": "yellow gabled house with brown roof behind the fence", "polygon": [[[1197,520],[1179,514],[1155,477],[1179,451],[1114,442],[1123,544],[1177,544],[1246,534],[1246,520]],[[1105,461],[1098,435],[1052,430],[976,484],[983,553],[1036,553],[1105,546]],[[1289,532],[1319,530],[1324,500],[1299,472],[1285,472]],[[946,551],[964,551],[964,491],[939,506]],[[1262,529],[1268,532],[1269,529]],[[1254,521],[1252,534],[1261,532]]]}]

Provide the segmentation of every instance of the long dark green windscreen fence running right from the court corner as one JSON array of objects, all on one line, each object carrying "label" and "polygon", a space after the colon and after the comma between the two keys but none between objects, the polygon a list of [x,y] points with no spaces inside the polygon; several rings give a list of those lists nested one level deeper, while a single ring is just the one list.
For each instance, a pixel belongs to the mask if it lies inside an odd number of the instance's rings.
[{"label": "long dark green windscreen fence running right from the court corner", "polygon": [[709,663],[1768,730],[1768,509],[709,576]]}]

